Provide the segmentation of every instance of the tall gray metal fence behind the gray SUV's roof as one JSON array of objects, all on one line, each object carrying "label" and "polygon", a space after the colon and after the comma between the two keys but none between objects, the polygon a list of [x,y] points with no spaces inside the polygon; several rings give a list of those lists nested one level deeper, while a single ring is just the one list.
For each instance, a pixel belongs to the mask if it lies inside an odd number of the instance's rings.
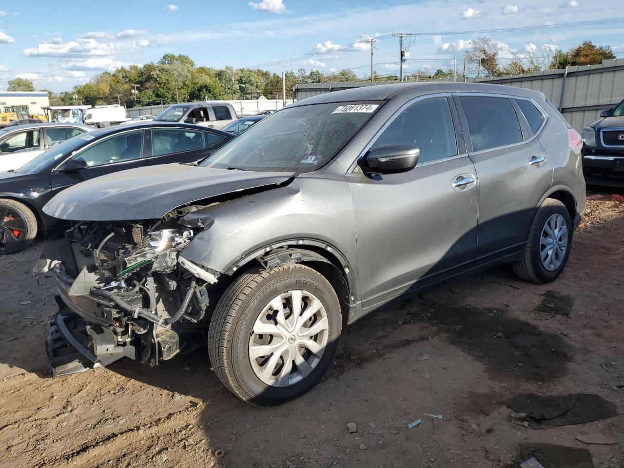
[{"label": "tall gray metal fence behind the gray SUV's roof", "polygon": [[[567,67],[562,70],[544,70],[528,75],[496,78],[469,78],[470,82],[505,84],[541,91],[563,117],[577,130],[598,119],[600,110],[615,106],[624,99],[624,59],[605,60],[600,65]],[[432,81],[453,81],[453,78]],[[394,81],[392,81],[394,83]],[[295,88],[297,100],[316,94],[379,82],[313,83]]]}]

